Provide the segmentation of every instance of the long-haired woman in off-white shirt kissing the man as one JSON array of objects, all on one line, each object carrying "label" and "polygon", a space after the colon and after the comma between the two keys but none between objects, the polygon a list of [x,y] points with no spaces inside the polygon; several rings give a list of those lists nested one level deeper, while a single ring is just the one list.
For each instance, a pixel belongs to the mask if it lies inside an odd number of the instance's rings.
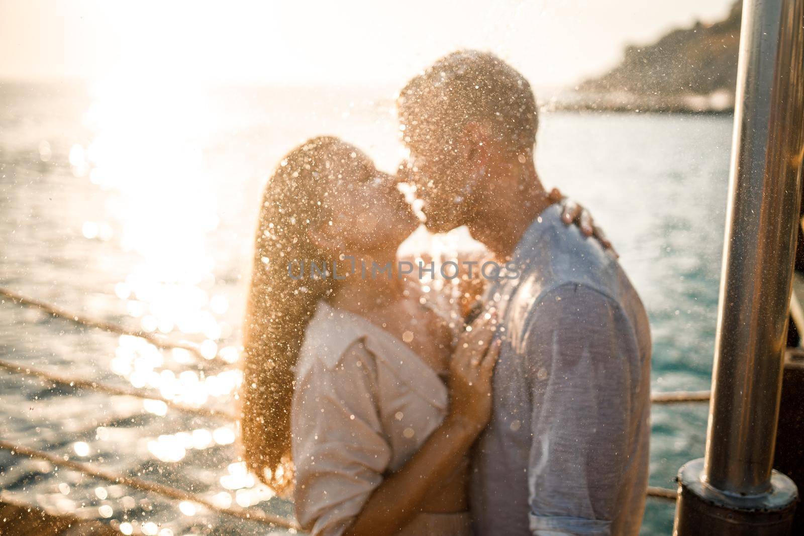
[{"label": "long-haired woman in off-white shirt kissing the man", "polygon": [[396,181],[333,137],[293,149],[265,188],[241,440],[266,484],[295,481],[312,534],[470,534],[467,454],[490,415],[494,311],[453,351],[416,285],[371,274],[396,266],[417,224]]}]

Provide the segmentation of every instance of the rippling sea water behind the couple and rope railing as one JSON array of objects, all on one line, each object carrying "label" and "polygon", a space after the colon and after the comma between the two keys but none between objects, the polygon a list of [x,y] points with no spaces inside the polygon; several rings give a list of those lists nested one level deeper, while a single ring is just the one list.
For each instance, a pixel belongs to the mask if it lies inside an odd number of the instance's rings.
[{"label": "rippling sea water behind the couple and rope railing", "polygon": [[[0,299],[0,358],[234,411],[244,292],[260,192],[281,155],[334,134],[393,170],[392,92],[0,84],[0,285],[76,313],[199,342],[158,350]],[[540,117],[536,162],[592,211],[642,296],[654,391],[708,389],[731,116]],[[0,372],[2,438],[290,514],[238,461],[236,428],[159,403]],[[706,407],[655,406],[650,485],[702,456]],[[265,526],[0,451],[2,497],[113,522],[124,533],[265,534]],[[670,534],[648,499],[643,534]],[[282,533],[282,530],[277,532]]]}]

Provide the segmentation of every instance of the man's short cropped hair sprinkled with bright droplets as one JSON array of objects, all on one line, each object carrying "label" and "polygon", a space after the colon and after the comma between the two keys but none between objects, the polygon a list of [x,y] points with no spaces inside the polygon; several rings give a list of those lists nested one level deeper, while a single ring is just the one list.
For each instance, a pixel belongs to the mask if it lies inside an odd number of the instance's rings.
[{"label": "man's short cropped hair sprinkled with bright droplets", "polygon": [[415,145],[449,147],[468,122],[478,121],[512,148],[531,149],[539,126],[531,84],[489,52],[445,55],[408,82],[396,104],[402,137]]}]

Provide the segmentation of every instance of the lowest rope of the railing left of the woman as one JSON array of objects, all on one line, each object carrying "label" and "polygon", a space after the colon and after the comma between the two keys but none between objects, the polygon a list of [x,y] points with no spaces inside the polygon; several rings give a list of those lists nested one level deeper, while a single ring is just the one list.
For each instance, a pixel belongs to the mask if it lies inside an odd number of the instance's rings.
[{"label": "lowest rope of the railing left of the woman", "polygon": [[125,475],[118,475],[103,468],[93,467],[92,464],[86,464],[80,461],[65,460],[61,456],[50,454],[36,450],[35,448],[23,447],[22,445],[10,443],[10,441],[0,440],[0,448],[10,451],[14,455],[28,456],[38,460],[45,460],[56,467],[68,468],[72,471],[82,473],[88,477],[99,478],[100,480],[108,481],[113,484],[120,484],[129,486],[129,488],[138,489],[143,492],[157,493],[162,497],[167,497],[177,501],[191,501],[199,505],[203,505],[212,511],[218,513],[225,513],[234,518],[245,519],[248,521],[255,521],[265,523],[267,525],[281,526],[286,529],[298,529],[299,526],[291,519],[283,518],[281,516],[271,515],[257,509],[242,508],[240,506],[219,506],[214,502],[209,501],[203,497],[199,497],[195,493],[185,491],[183,489],[174,488],[169,485],[157,484],[137,477],[127,477]]}]

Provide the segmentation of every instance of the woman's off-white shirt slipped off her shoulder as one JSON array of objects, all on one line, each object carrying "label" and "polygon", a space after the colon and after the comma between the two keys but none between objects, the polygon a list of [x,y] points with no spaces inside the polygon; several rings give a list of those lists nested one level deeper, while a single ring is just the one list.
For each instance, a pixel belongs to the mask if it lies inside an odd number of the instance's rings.
[{"label": "woman's off-white shirt slipped off her shoulder", "polygon": [[296,517],[343,534],[385,473],[441,424],[444,383],[404,342],[324,302],[299,354],[291,413]]}]

